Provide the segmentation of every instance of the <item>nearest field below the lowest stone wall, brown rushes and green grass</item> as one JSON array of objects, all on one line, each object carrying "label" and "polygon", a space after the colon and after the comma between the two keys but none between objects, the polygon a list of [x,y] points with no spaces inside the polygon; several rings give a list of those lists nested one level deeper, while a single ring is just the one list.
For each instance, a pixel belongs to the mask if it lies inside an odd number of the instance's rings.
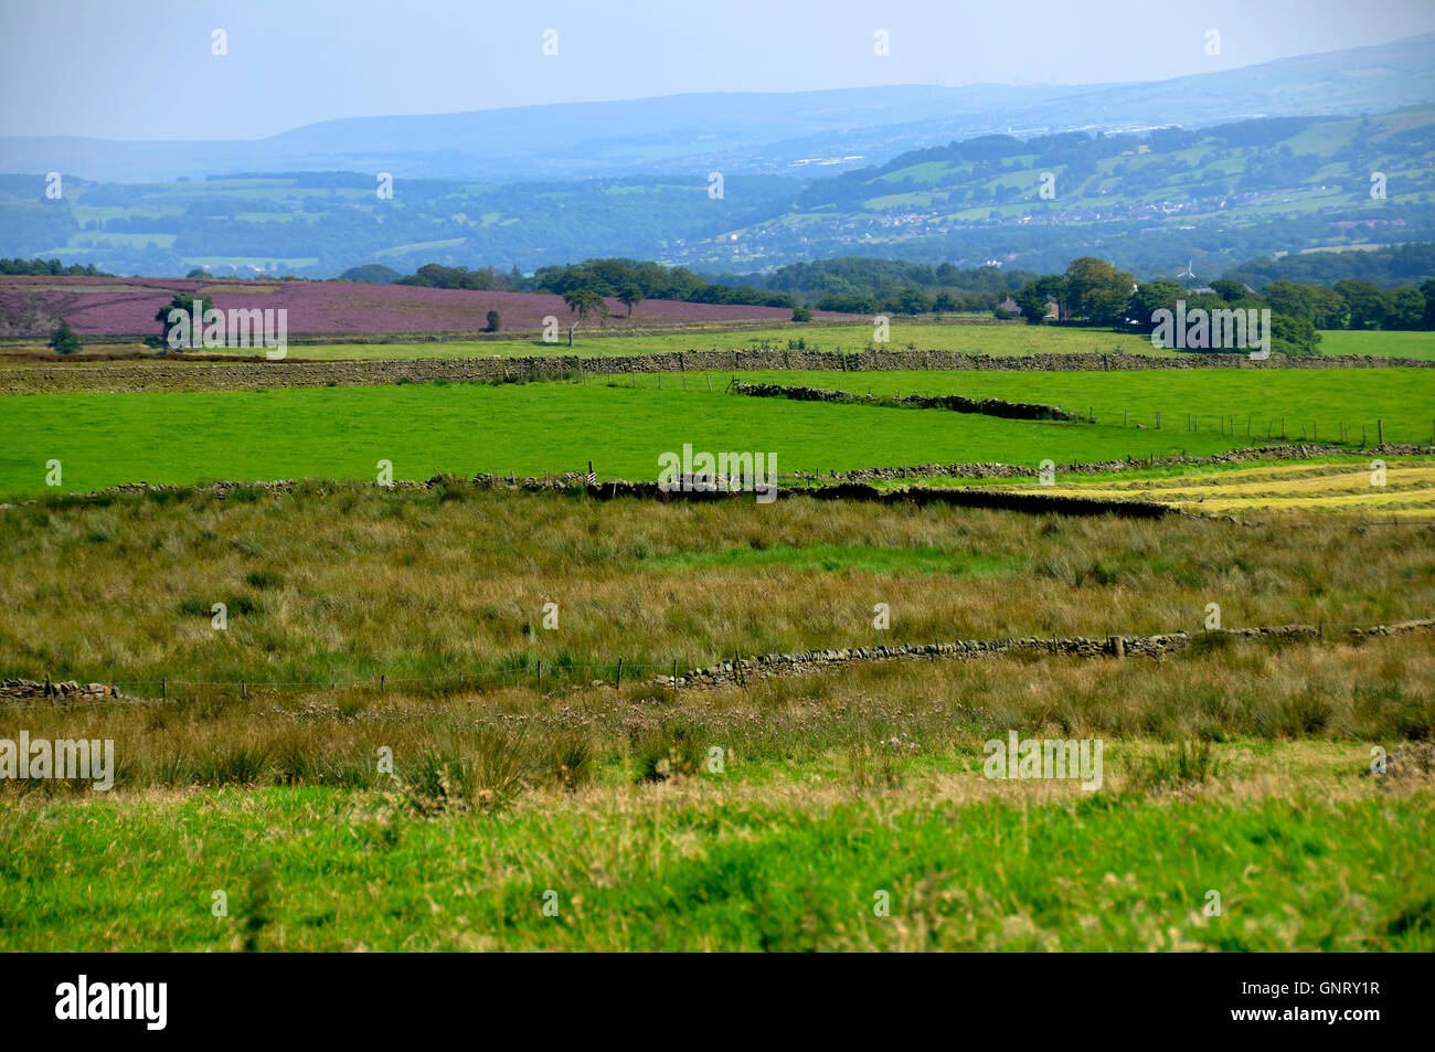
[{"label": "nearest field below the lowest stone wall, brown rushes and green grass", "polygon": [[[1402,637],[10,709],[118,779],[0,785],[0,949],[1428,952],[1435,782],[1368,771],[1432,698]],[[984,776],[1010,729],[1101,786]]]}]

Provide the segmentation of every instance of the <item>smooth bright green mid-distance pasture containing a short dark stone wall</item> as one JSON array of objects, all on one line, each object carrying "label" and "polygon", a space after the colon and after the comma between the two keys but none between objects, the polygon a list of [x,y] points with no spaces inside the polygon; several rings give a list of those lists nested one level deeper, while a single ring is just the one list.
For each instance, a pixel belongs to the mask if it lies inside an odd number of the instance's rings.
[{"label": "smooth bright green mid-distance pasture containing a short dark stone wall", "polygon": [[[598,377],[601,380],[601,377]],[[637,382],[636,388],[626,386]],[[822,405],[723,395],[725,376],[630,376],[598,383],[400,385],[270,392],[100,393],[0,398],[0,494],[121,482],[395,478],[479,472],[542,475],[585,469],[657,476],[659,455],[695,449],[776,454],[779,472],[997,461],[1035,466],[1124,456],[1200,456],[1309,426],[1335,441],[1346,423],[1375,442],[1431,438],[1435,372],[1230,370],[1181,373],[755,373],[743,379],[854,386],[858,393],[961,393],[1092,406],[1098,423],[1006,421],[944,410]],[[1128,409],[1129,426],[1122,426]],[[1155,429],[1155,413],[1164,413]],[[1198,429],[1187,431],[1185,413]],[[1246,413],[1256,412],[1253,436]],[[1237,433],[1223,435],[1221,415]],[[1145,422],[1145,431],[1135,428]]]}]

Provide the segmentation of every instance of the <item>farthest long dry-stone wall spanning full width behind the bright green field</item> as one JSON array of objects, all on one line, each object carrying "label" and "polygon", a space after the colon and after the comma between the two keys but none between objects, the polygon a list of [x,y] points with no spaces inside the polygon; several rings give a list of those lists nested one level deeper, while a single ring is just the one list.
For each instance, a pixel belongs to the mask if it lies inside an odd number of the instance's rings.
[{"label": "farthest long dry-stone wall spanning full width behind the bright green field", "polygon": [[354,388],[397,383],[502,383],[637,373],[738,372],[1141,372],[1164,369],[1435,369],[1435,362],[1366,354],[1289,357],[1194,353],[1025,354],[994,357],[947,350],[687,350],[611,357],[532,356],[400,360],[235,360],[46,363],[0,369],[0,395],[139,390],[267,390],[277,388]]}]

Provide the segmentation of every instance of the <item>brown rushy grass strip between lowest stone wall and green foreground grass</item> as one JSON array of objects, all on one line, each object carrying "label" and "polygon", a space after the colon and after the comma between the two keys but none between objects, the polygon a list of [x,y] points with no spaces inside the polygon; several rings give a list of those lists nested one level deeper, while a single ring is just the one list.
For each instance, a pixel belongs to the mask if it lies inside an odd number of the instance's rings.
[{"label": "brown rushy grass strip between lowest stone wall and green foreground grass", "polygon": [[[707,759],[829,771],[858,791],[894,786],[914,761],[980,769],[1007,731],[1149,742],[1170,769],[1210,771],[1238,741],[1395,743],[1435,739],[1435,642],[1359,647],[1227,642],[1149,659],[898,662],[686,692],[637,683],[555,696],[532,687],[443,696],[329,692],[168,703],[0,709],[0,738],[110,738],[119,795],[224,786],[402,786],[419,812],[502,808],[525,792],[707,779]],[[1195,742],[1187,746],[1182,743]],[[393,775],[380,771],[392,751]],[[1118,748],[1119,752],[1119,748]],[[1165,753],[1162,753],[1165,755]],[[1184,756],[1184,759],[1182,759]],[[1172,768],[1174,765],[1174,768]],[[1185,766],[1182,766],[1185,765]],[[1177,781],[1185,781],[1185,775]],[[0,784],[0,795],[88,794],[88,784]]]}]

